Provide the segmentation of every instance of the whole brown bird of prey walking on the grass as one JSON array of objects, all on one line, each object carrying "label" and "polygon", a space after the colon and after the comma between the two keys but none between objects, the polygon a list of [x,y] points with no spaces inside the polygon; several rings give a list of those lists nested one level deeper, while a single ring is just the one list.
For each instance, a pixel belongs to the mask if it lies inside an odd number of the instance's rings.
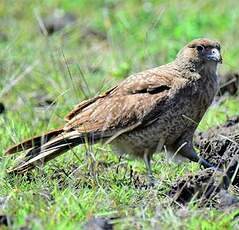
[{"label": "whole brown bird of prey walking on the grass", "polygon": [[106,93],[83,101],[64,127],[30,138],[6,153],[26,151],[10,172],[23,173],[73,147],[101,142],[145,161],[165,152],[211,167],[193,148],[192,138],[218,89],[220,44],[196,39],[174,61],[133,74]]}]

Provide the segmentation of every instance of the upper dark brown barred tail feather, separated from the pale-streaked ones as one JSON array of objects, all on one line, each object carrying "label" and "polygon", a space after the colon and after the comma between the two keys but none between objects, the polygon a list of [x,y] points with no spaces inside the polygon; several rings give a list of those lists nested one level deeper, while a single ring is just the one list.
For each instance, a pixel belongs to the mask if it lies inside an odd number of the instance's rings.
[{"label": "upper dark brown barred tail feather, separated from the pale-streaked ones", "polygon": [[9,149],[7,149],[5,151],[5,154],[13,154],[16,152],[21,152],[23,150],[39,147],[39,146],[43,145],[44,143],[48,142],[49,140],[51,140],[52,138],[58,136],[62,132],[63,132],[62,128],[54,129],[48,133],[44,133],[43,135],[27,139],[19,144],[16,144],[16,145],[10,147]]}]

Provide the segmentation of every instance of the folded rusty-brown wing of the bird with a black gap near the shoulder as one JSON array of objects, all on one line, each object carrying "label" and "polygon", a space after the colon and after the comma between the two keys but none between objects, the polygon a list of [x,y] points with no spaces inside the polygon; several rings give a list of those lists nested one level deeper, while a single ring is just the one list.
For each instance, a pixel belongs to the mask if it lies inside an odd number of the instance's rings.
[{"label": "folded rusty-brown wing of the bird with a black gap near the shoulder", "polygon": [[127,132],[131,127],[137,128],[144,120],[152,123],[160,116],[159,107],[175,91],[175,82],[177,77],[164,75],[162,71],[160,74],[151,70],[132,75],[104,96],[95,98],[87,106],[80,106],[75,116],[70,116],[64,130],[112,131],[115,135],[122,130]]}]

